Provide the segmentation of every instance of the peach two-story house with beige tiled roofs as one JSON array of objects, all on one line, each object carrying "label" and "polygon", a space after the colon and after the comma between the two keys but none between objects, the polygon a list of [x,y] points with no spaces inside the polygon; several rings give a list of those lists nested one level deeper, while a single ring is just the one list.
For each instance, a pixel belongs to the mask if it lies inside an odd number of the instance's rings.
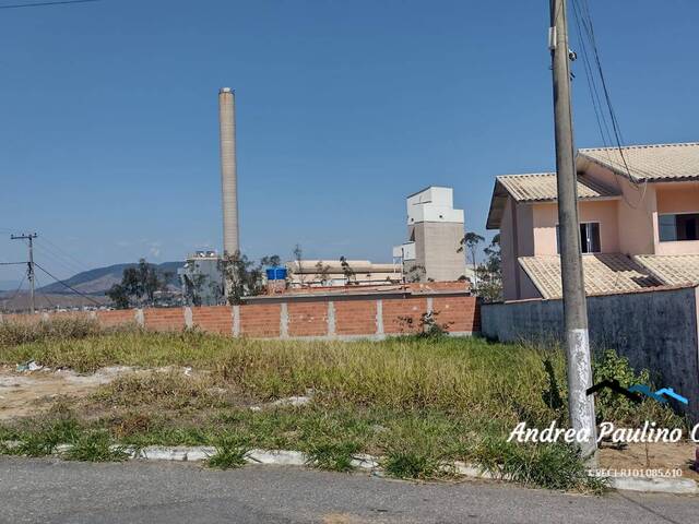
[{"label": "peach two-story house with beige tiled roofs", "polygon": [[[578,213],[589,295],[699,283],[699,143],[579,150]],[[503,298],[559,298],[556,174],[496,178]]]}]

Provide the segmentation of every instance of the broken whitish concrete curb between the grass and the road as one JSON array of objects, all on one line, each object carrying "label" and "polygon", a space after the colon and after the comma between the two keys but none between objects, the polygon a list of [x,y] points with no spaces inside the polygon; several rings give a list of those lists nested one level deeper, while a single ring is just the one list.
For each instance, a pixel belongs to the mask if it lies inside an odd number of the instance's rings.
[{"label": "broken whitish concrete curb between the grass and the road", "polygon": [[[21,444],[16,441],[2,442],[5,448],[12,449]],[[70,451],[71,444],[59,444],[56,446],[56,454],[61,455]],[[131,460],[143,461],[168,461],[168,462],[203,462],[216,454],[213,446],[161,446],[150,445],[137,450],[130,446],[112,445],[112,451],[122,451]],[[249,464],[274,465],[274,466],[308,466],[313,464],[313,458],[307,453],[292,450],[259,450],[253,449],[245,454],[245,460]],[[380,457],[368,454],[356,454],[353,457],[352,466],[356,469],[371,472],[377,475],[382,474]],[[507,476],[486,472],[473,464],[454,461],[442,465],[442,469],[451,472],[460,477],[510,480]],[[699,486],[689,478],[666,478],[666,477],[600,477],[605,478],[609,487],[621,491],[640,491],[645,493],[673,493],[673,495],[699,495]]]}]

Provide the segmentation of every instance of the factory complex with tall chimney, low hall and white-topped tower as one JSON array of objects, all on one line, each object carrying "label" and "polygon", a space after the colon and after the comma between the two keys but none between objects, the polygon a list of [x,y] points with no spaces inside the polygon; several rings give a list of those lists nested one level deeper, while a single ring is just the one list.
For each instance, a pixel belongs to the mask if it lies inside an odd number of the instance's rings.
[{"label": "factory complex with tall chimney, low hall and white-topped tower", "polygon": [[[218,131],[221,189],[223,207],[223,253],[240,251],[236,162],[235,92],[218,92]],[[270,282],[271,293],[286,289],[341,286],[382,286],[403,283],[453,282],[467,274],[460,252],[464,236],[463,210],[453,207],[453,189],[430,186],[406,199],[407,240],[393,248],[391,263],[368,260],[296,260],[286,270],[265,272],[284,275],[283,282]],[[212,306],[225,301],[226,289],[221,255],[197,251],[178,270],[182,295],[190,305]],[[275,277],[270,277],[270,279]]]}]

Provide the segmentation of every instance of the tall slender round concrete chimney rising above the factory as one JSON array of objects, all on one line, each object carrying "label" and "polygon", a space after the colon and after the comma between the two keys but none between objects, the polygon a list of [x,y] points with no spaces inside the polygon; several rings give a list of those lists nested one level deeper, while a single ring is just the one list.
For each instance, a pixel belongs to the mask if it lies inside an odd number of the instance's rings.
[{"label": "tall slender round concrete chimney rising above the factory", "polygon": [[221,188],[223,194],[223,251],[233,254],[238,241],[238,176],[236,170],[236,95],[230,87],[218,91],[221,133]]}]

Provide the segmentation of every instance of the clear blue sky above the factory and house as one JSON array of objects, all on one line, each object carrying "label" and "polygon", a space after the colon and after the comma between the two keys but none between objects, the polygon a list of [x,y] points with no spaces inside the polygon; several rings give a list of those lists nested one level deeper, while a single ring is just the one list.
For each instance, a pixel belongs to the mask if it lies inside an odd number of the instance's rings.
[{"label": "clear blue sky above the factory and house", "polygon": [[[589,2],[626,142],[699,140],[699,3]],[[494,176],[554,167],[547,19],[544,0],[0,10],[0,260],[20,230],[60,276],[218,248],[221,86],[249,255],[390,260],[428,184],[485,233]],[[577,143],[599,145],[576,70]]]}]

